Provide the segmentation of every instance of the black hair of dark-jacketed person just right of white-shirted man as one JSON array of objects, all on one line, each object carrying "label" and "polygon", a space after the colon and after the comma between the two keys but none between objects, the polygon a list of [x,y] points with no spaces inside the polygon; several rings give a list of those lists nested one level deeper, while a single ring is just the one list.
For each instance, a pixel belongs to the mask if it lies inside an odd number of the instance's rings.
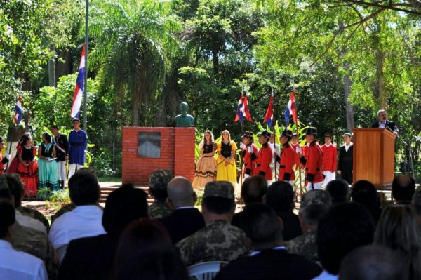
[{"label": "black hair of dark-jacketed person just right of white-shirted man", "polygon": [[102,225],[108,234],[119,236],[128,224],[147,216],[147,194],[124,184],[107,197]]}]

